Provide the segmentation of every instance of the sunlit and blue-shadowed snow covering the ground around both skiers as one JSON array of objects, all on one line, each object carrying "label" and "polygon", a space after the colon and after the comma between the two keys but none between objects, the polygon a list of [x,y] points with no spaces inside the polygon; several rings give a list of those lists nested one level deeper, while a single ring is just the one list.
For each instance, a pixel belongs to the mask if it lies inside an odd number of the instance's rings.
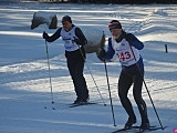
[{"label": "sunlit and blue-shadowed snow covering the ground around both skiers", "polygon": [[[66,68],[62,40],[49,44],[52,91],[45,42],[42,32],[52,34],[43,24],[30,30],[33,13],[56,13],[60,20],[69,14],[76,25],[104,30],[110,37],[107,23],[118,19],[127,32],[145,44],[140,51],[145,62],[145,81],[163,126],[155,133],[173,133],[177,129],[177,7],[174,4],[0,4],[0,132],[1,133],[110,133],[123,127],[127,115],[117,98],[117,80],[121,71],[117,59],[107,63],[114,104],[115,123],[111,112],[104,64],[95,53],[87,54],[84,75],[91,101],[100,104],[66,108],[75,100],[73,84]],[[165,53],[165,44],[168,53]],[[96,82],[94,83],[92,75]],[[104,102],[97,91],[101,92]],[[133,99],[128,94],[137,114]],[[146,89],[143,96],[147,103],[152,125],[159,125]],[[46,106],[48,109],[44,109]],[[54,106],[56,110],[52,110]]]}]

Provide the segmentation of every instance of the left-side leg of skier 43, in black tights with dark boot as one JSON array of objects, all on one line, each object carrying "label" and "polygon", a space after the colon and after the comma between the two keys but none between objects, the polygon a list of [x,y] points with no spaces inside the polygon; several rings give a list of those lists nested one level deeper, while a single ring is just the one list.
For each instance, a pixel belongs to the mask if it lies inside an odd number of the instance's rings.
[{"label": "left-side leg of skier 43, in black tights with dark boot", "polygon": [[134,123],[136,123],[136,116],[133,111],[132,103],[127,98],[128,90],[133,83],[133,79],[127,75],[125,72],[121,72],[119,80],[118,80],[118,96],[121,99],[121,103],[125,111],[128,114],[128,121],[125,124],[126,129],[129,129]]}]

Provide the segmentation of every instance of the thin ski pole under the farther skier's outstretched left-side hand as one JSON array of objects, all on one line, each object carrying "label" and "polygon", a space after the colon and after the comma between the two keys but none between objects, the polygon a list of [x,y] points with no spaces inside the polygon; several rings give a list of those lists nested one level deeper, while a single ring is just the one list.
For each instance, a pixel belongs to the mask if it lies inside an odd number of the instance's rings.
[{"label": "thin ski pole under the farther skier's outstretched left-side hand", "polygon": [[50,89],[51,89],[51,98],[52,98],[52,104],[54,104],[53,101],[53,91],[52,91],[52,79],[51,79],[51,68],[49,62],[49,50],[48,50],[48,42],[45,40],[45,48],[46,48],[46,59],[48,59],[48,68],[49,68],[49,81],[50,81]]}]

